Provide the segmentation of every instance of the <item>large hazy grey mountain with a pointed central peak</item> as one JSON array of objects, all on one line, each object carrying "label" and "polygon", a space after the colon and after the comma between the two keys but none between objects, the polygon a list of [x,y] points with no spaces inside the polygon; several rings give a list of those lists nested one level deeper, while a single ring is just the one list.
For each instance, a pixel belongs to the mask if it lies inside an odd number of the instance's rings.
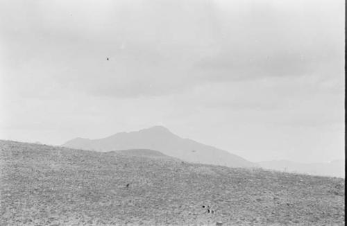
[{"label": "large hazy grey mountain with a pointed central peak", "polygon": [[76,138],[62,146],[85,150],[124,150],[146,148],[159,150],[164,155],[187,162],[214,164],[230,167],[252,167],[253,162],[233,155],[226,150],[200,144],[191,139],[183,139],[162,126],[154,126],[136,132],[119,132],[103,139]]}]

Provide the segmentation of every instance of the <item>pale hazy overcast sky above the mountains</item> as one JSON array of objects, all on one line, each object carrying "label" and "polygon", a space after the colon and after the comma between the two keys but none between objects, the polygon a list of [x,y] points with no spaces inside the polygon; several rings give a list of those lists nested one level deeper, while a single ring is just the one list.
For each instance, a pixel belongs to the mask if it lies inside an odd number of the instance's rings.
[{"label": "pale hazy overcast sky above the mountains", "polygon": [[164,125],[251,161],[344,158],[344,8],[2,0],[0,139]]}]

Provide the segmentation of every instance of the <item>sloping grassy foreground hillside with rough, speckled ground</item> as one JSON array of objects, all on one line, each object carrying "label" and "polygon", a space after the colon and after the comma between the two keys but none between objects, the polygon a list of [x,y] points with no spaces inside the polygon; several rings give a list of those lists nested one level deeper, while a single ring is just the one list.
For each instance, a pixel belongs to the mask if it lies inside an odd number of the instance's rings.
[{"label": "sloping grassy foreground hillside with rough, speckled ground", "polygon": [[4,226],[344,225],[339,178],[189,164],[139,150],[15,141],[0,141],[0,150]]}]

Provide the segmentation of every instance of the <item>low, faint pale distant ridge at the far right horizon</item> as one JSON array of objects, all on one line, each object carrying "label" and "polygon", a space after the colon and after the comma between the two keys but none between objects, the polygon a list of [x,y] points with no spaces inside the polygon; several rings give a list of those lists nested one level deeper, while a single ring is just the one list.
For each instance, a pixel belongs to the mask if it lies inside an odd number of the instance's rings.
[{"label": "low, faint pale distant ridge at the far right horizon", "polygon": [[344,160],[335,160],[327,163],[304,164],[291,162],[288,160],[273,160],[257,162],[257,164],[266,169],[276,171],[287,171],[295,173],[306,173],[310,175],[323,175],[332,177],[345,177]]}]

